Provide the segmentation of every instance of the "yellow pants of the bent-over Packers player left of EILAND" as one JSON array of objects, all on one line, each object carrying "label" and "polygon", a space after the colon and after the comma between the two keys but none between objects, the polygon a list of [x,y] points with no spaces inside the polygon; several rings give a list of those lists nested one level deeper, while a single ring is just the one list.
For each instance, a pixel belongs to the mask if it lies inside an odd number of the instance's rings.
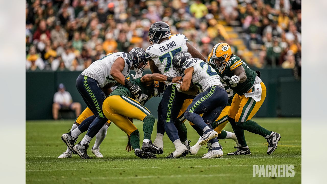
[{"label": "yellow pants of the bent-over Packers player left of EILAND", "polygon": [[129,97],[113,95],[103,101],[102,110],[104,115],[112,120],[127,135],[137,130],[136,126],[128,119],[143,121],[150,111]]}]

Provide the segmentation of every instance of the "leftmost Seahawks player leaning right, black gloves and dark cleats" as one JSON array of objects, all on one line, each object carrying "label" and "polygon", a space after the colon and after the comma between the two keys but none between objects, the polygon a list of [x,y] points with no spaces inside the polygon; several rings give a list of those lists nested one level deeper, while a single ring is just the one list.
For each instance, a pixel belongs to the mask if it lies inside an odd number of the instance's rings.
[{"label": "leftmost Seahawks player leaning right, black gloves and dark cleats", "polygon": [[[91,139],[95,137],[101,127],[108,121],[102,111],[105,94],[101,88],[110,89],[115,83],[120,83],[127,87],[135,97],[139,97],[141,94],[140,87],[131,83],[126,77],[129,75],[130,69],[135,70],[137,73],[142,73],[146,65],[147,60],[144,50],[135,47],[129,53],[117,52],[104,56],[92,63],[77,77],[77,90],[96,117],[86,118],[78,128],[63,134],[61,139],[81,158],[91,158],[86,152],[88,145]],[[74,145],[77,137],[85,131],[87,131],[87,134],[84,138]]]}]

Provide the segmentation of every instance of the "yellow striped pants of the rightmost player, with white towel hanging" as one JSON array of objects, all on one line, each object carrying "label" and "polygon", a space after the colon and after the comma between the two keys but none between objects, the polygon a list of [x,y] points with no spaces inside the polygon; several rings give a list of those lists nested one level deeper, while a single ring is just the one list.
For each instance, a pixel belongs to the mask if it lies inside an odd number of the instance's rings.
[{"label": "yellow striped pants of the rightmost player, with white towel hanging", "polygon": [[[253,98],[246,98],[244,95],[235,94],[228,116],[235,119],[235,122],[245,122],[250,120],[258,112],[262,103],[265,101],[267,88],[263,82],[260,83],[262,88],[261,100],[256,102]],[[248,93],[252,92],[252,89]]]}]

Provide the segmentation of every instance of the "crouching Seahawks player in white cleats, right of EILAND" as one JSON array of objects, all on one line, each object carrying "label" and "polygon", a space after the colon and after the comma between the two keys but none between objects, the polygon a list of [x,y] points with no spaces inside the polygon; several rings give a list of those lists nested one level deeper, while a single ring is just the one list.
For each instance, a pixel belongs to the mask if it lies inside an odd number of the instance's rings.
[{"label": "crouching Seahawks player in white cleats, right of EILAND", "polygon": [[[215,70],[203,60],[193,58],[189,52],[178,52],[173,58],[173,66],[177,74],[184,74],[181,84],[176,84],[176,90],[188,91],[191,82],[202,91],[187,107],[184,117],[198,126],[203,132],[199,145],[210,141],[212,151],[202,158],[222,157],[223,152],[218,143],[218,133],[211,124],[219,117],[228,102],[225,87]],[[203,114],[201,117],[200,114]]]}]

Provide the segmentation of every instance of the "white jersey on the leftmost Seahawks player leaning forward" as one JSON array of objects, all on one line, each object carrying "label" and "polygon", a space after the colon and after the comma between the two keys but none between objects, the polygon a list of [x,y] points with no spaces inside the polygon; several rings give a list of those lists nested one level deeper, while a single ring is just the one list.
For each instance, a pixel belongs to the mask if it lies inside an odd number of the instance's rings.
[{"label": "white jersey on the leftmost Seahawks player leaning forward", "polygon": [[95,79],[100,87],[104,87],[109,83],[117,83],[110,75],[111,66],[117,58],[122,57],[125,60],[125,67],[122,74],[125,78],[129,75],[129,69],[132,66],[132,59],[129,54],[125,52],[110,53],[102,57],[99,60],[93,62],[88,68],[86,68],[82,75]]}]

